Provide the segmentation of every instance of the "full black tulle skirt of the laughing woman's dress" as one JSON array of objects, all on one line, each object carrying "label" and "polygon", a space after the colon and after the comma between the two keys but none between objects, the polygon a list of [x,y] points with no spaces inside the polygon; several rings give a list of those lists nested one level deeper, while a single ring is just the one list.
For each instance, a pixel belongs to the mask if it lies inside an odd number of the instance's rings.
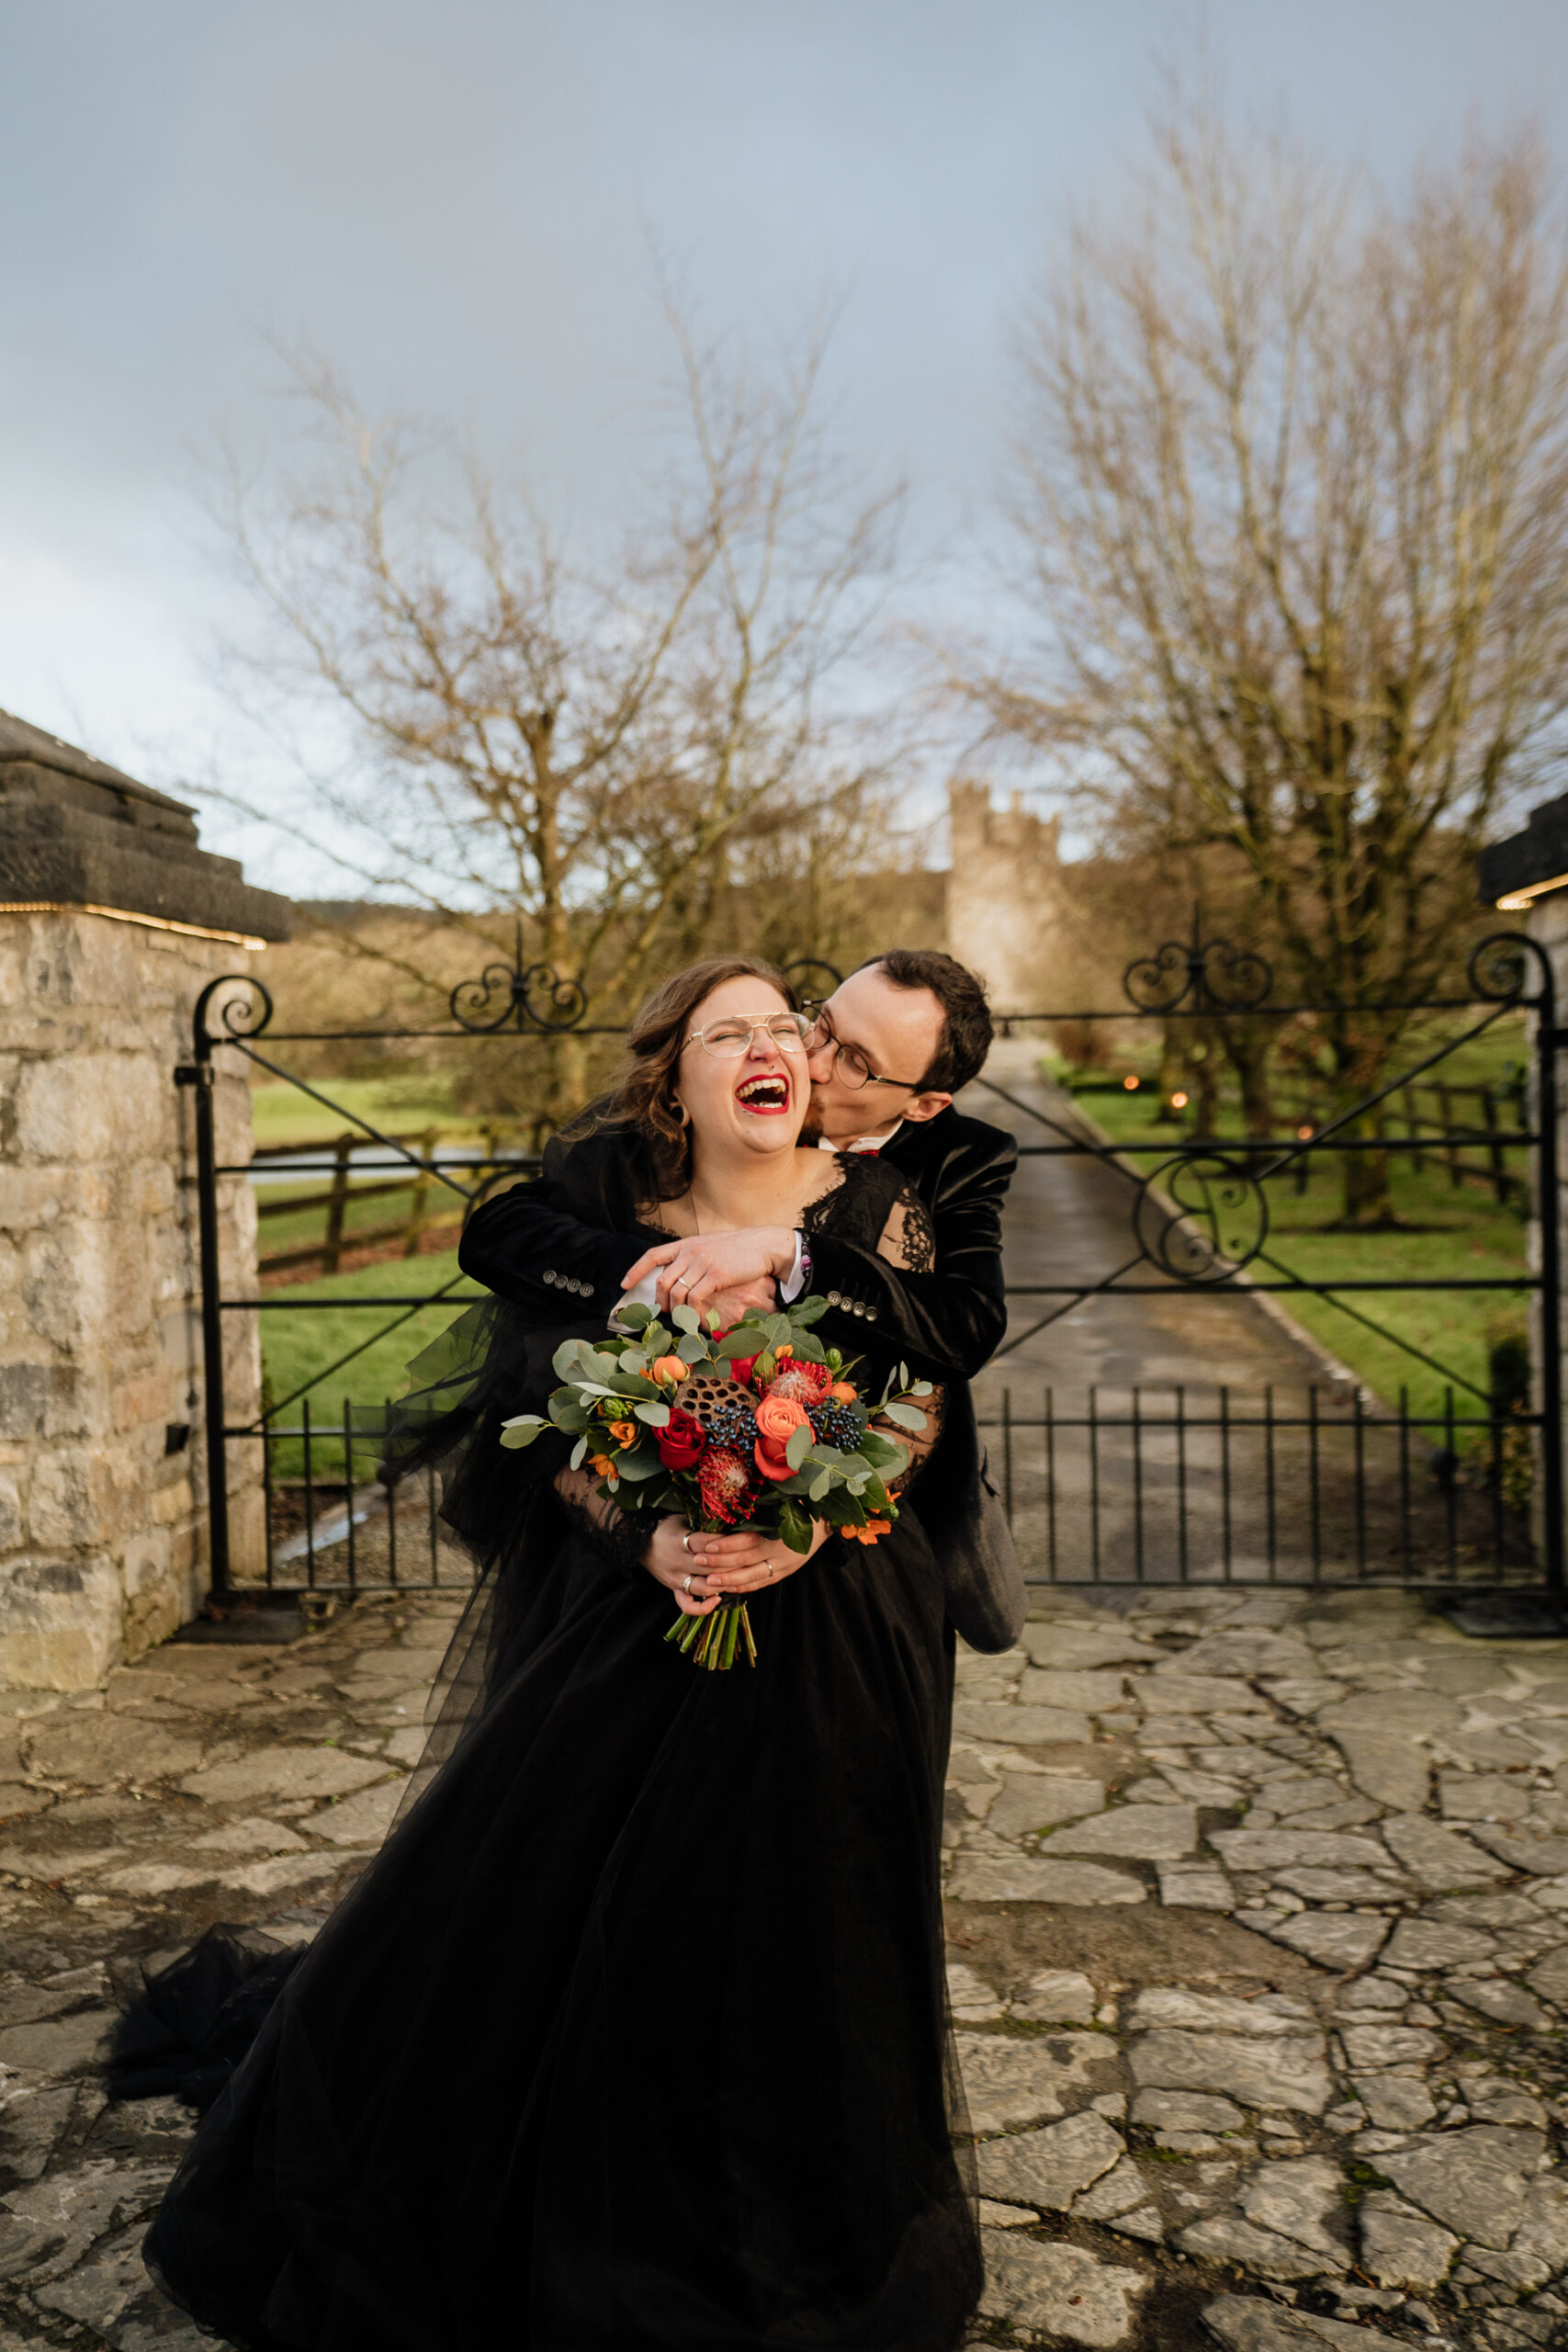
[{"label": "full black tulle skirt of the laughing woman's dress", "polygon": [[[538,1550],[536,1550],[538,1564]],[[950,2352],[980,2291],[914,1510],[708,1675],[562,1534],[148,2237],[247,2352]],[[480,1675],[482,1703],[461,1703]],[[454,1698],[456,1691],[456,1698]]]}]

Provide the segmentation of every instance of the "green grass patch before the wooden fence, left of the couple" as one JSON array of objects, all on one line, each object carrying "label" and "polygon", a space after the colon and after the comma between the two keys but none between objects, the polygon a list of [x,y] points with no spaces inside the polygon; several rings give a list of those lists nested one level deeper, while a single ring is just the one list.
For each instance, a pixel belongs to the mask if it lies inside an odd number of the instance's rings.
[{"label": "green grass patch before the wooden fence, left of the couple", "polygon": [[[449,1298],[437,1305],[416,1308],[310,1308],[310,1298],[421,1298],[430,1291],[456,1284]],[[353,1406],[376,1406],[386,1397],[397,1397],[404,1388],[409,1359],[456,1322],[463,1303],[487,1296],[477,1284],[458,1275],[456,1249],[444,1249],[428,1258],[393,1261],[390,1265],[362,1265],[353,1275],[329,1275],[322,1282],[299,1282],[268,1291],[268,1298],[287,1298],[287,1305],[261,1310],[261,1369],[268,1402],[275,1406],[306,1385],[310,1404],[313,1437],[310,1468],[315,1477],[343,1477],[343,1402]],[[371,1341],[348,1364],[362,1341]],[[275,1411],[282,1428],[301,1425],[301,1402]],[[273,1446],[273,1475],[299,1477],[303,1470],[303,1442],[284,1437]],[[355,1477],[369,1477],[374,1454],[355,1446]]]}]

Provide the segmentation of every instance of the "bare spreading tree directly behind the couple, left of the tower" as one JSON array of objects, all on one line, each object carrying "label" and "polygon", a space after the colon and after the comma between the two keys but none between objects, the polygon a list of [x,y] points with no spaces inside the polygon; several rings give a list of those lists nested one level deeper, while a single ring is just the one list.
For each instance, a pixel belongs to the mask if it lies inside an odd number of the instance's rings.
[{"label": "bare spreading tree directly behind the couple, left of the tower", "polygon": [[[527,485],[451,430],[371,421],[315,360],[315,463],[261,492],[233,468],[223,510],[270,623],[252,677],[343,722],[296,830],[329,818],[362,884],[496,946],[522,922],[597,1018],[712,936],[748,835],[809,840],[875,776],[827,682],[900,494],[856,496],[827,452],[820,336],[757,381],[670,322],[684,447],[614,560],[571,560]],[[578,1061],[548,1056],[545,1108]]]}]

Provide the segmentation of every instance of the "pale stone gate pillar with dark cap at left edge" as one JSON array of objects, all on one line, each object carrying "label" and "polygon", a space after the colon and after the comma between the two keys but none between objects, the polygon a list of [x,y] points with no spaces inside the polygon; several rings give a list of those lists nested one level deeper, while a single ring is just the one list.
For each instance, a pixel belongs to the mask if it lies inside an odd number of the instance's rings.
[{"label": "pale stone gate pillar with dark cap at left edge", "polygon": [[[193,1105],[174,1073],[200,990],[249,971],[287,915],[197,847],[181,802],[0,713],[0,1686],[89,1689],[205,1595]],[[219,1075],[216,1110],[221,1160],[247,1162],[242,1075]],[[226,1291],[244,1294],[242,1176],[221,1214]],[[256,1331],[230,1324],[244,1421]],[[256,1451],[230,1444],[242,1566]]]}]

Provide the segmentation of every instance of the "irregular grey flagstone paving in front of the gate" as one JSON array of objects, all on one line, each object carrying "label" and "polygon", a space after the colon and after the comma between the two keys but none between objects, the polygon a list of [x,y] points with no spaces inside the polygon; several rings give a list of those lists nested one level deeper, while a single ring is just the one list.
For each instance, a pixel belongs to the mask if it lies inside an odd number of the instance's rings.
[{"label": "irregular grey flagstone paving in front of the gate", "polygon": [[[306,1940],[386,1835],[456,1597],[0,1693],[0,2352],[195,2352],[139,2241],[190,2117],[115,1990]],[[1568,1644],[1401,1595],[1048,1595],[964,1656],[950,1992],[971,2343],[1568,2345]]]}]

